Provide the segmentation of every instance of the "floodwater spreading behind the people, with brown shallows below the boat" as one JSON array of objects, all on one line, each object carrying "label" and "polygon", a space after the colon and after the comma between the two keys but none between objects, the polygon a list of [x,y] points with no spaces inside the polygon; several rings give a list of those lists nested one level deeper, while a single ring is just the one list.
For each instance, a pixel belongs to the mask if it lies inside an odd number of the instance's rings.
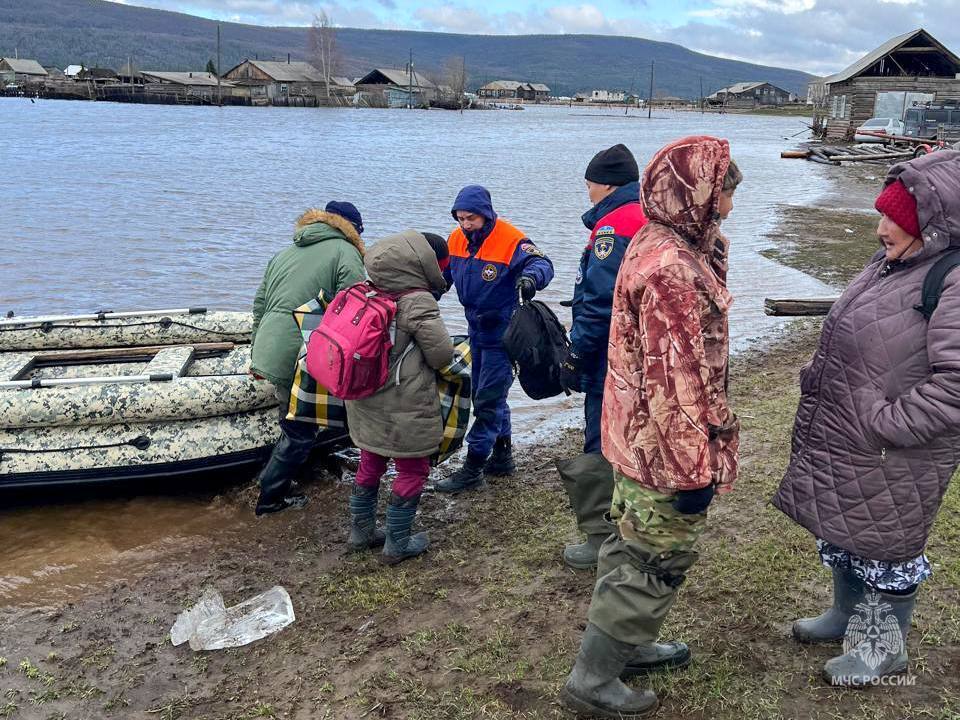
[{"label": "floodwater spreading behind the people, with brown shallows below the boat", "polygon": [[[642,165],[674,138],[712,134],[730,140],[745,176],[724,226],[731,333],[742,349],[782,322],[764,316],[764,297],[830,292],[759,254],[778,205],[813,202],[828,187],[824,168],[779,160],[801,123],[566,107],[458,114],[0,99],[0,311],[249,308],[303,210],[349,200],[371,244],[407,227],[446,234],[458,189],[480,183],[500,215],[553,260],[556,278],[540,297],[569,321],[558,302],[572,293],[587,238],[582,178],[592,155],[623,142]],[[462,331],[454,293],[441,307],[451,330]],[[518,389],[511,404],[520,443],[575,424],[579,408],[577,398],[534,403]],[[49,601],[43,587],[80,586],[108,561],[148,558],[151,548],[194,542],[252,515],[210,502],[0,510],[0,605]]]}]

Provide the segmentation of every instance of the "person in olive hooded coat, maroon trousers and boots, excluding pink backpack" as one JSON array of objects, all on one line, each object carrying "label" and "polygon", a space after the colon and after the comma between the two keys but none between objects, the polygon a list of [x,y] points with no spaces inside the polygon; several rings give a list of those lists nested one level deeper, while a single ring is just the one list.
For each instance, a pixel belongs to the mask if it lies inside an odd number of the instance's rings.
[{"label": "person in olive hooded coat, maroon trousers and boots, excluding pink backpack", "polygon": [[[381,559],[389,565],[421,554],[429,544],[426,533],[411,534],[411,528],[430,456],[443,439],[436,371],[453,360],[453,341],[436,298],[447,289],[446,261],[443,238],[415,230],[379,240],[364,258],[371,290],[394,299],[396,314],[386,383],[369,397],[346,400],[350,437],[360,448],[349,545],[364,550],[383,544]],[[397,476],[384,532],[376,527],[377,497],[391,458]]]}]

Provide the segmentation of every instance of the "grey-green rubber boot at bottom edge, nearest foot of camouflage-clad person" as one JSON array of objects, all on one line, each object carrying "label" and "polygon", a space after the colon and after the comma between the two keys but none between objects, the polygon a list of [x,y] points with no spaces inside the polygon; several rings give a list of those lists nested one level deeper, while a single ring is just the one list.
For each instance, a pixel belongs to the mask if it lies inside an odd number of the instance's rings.
[{"label": "grey-green rubber boot at bottom edge, nearest foot of camouflage-clad person", "polygon": [[588,623],[573,671],[560,691],[560,702],[578,714],[614,720],[656,712],[659,702],[652,691],[636,692],[620,681],[635,650]]}]

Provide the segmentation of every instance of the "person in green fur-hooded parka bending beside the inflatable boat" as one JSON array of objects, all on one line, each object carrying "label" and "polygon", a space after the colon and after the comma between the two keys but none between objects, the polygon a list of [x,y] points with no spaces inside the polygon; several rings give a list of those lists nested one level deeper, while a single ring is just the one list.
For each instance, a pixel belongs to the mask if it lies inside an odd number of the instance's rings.
[{"label": "person in green fur-hooded parka bending beside the inflatable boat", "polygon": [[290,389],[303,343],[293,310],[322,291],[327,299],[363,282],[363,218],[351,203],[333,201],[297,220],[293,245],[267,263],[253,301],[250,373],[269,380],[280,406],[280,439],[260,472],[256,514],[303,507],[293,474],[307,459],[320,431],[314,423],[287,420]]}]

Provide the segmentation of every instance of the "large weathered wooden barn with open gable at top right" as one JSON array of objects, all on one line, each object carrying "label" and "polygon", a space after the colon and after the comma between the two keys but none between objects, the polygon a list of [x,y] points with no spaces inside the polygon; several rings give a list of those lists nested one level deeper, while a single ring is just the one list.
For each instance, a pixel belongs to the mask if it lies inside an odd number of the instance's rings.
[{"label": "large weathered wooden barn with open gable at top right", "polygon": [[826,137],[849,139],[870,118],[899,120],[914,103],[960,100],[960,57],[919,28],[820,84]]}]

